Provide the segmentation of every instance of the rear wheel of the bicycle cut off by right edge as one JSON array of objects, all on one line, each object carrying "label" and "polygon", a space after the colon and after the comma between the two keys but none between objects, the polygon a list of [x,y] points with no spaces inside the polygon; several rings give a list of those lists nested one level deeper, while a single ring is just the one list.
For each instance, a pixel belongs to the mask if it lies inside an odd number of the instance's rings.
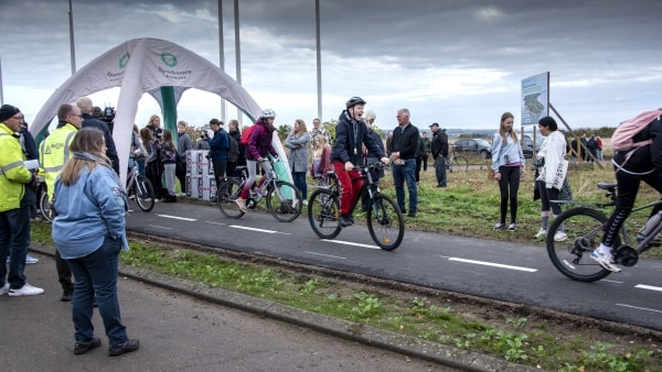
[{"label": "rear wheel of the bicycle cut off by right edge", "polygon": [[[607,216],[590,208],[573,208],[562,212],[554,219],[547,230],[547,253],[552,263],[562,274],[578,282],[595,282],[611,272],[589,258],[600,245],[605,234],[604,226]],[[555,241],[554,236],[563,225],[567,239]],[[613,242],[620,245],[620,239]]]}]

